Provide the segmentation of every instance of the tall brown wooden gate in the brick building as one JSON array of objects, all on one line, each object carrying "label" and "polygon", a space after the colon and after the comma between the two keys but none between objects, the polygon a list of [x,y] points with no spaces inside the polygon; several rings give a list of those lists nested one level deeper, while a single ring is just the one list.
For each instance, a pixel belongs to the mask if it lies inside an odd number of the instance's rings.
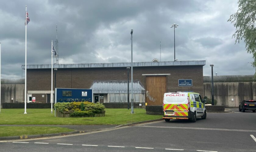
[{"label": "tall brown wooden gate in the brick building", "polygon": [[146,102],[148,105],[163,105],[166,92],[166,76],[146,76]]}]

